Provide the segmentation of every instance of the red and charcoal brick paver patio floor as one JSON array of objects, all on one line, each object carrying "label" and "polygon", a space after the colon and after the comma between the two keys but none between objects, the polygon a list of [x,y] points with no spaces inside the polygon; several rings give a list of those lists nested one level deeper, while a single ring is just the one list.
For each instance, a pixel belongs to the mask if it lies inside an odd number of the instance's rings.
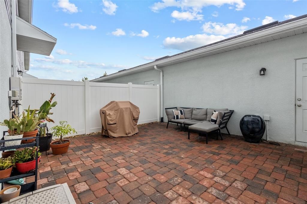
[{"label": "red and charcoal brick paver patio floor", "polygon": [[42,156],[38,187],[68,183],[76,203],[306,203],[307,148],[223,136],[206,145],[153,123],[128,138],[71,138],[68,153]]}]

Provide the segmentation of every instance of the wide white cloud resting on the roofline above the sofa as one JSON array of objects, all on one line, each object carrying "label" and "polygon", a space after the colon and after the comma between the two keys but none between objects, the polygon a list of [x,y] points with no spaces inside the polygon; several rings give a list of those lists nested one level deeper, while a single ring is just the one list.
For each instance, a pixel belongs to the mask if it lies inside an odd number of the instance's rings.
[{"label": "wide white cloud resting on the roofline above the sofa", "polygon": [[220,40],[224,40],[225,38],[225,36],[221,35],[216,36],[207,34],[191,35],[184,38],[167,37],[163,41],[163,45],[165,48],[186,51],[195,47],[200,47]]}]

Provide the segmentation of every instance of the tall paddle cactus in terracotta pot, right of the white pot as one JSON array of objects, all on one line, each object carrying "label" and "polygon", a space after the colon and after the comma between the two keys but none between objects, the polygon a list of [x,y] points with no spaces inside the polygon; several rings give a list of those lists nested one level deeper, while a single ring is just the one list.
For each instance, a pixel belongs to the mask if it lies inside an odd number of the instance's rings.
[{"label": "tall paddle cactus in terracotta pot, right of the white pot", "polygon": [[[41,113],[37,116],[35,115],[35,110],[32,111],[30,114],[30,106],[27,110],[27,114],[25,112],[22,112],[22,119],[20,123],[22,124],[21,130],[23,131],[23,138],[30,138],[35,137],[37,135],[38,129],[37,125],[40,122],[39,117],[41,116]],[[21,144],[30,143],[33,142],[35,139],[29,139],[29,140],[23,140]]]}]

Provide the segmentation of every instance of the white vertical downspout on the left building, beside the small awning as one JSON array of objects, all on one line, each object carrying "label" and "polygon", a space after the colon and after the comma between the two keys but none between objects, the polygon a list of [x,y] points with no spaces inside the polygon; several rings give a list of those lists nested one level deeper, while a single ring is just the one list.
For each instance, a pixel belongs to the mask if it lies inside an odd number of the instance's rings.
[{"label": "white vertical downspout on the left building, beside the small awning", "polygon": [[12,76],[17,77],[16,0],[11,3],[12,19]]}]

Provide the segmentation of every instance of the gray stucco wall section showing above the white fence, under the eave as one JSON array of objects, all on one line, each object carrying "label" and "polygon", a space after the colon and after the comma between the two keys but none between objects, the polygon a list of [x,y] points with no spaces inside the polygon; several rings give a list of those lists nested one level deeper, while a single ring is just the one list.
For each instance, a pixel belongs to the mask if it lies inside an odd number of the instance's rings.
[{"label": "gray stucco wall section showing above the white fence, under the eave", "polygon": [[136,74],[131,74],[124,77],[118,77],[115,79],[110,79],[103,81],[106,83],[121,83],[127,84],[131,82],[132,84],[141,84],[144,85],[145,81],[154,81],[154,85],[160,84],[160,72],[157,70],[149,70],[145,72],[139,72]]}]

